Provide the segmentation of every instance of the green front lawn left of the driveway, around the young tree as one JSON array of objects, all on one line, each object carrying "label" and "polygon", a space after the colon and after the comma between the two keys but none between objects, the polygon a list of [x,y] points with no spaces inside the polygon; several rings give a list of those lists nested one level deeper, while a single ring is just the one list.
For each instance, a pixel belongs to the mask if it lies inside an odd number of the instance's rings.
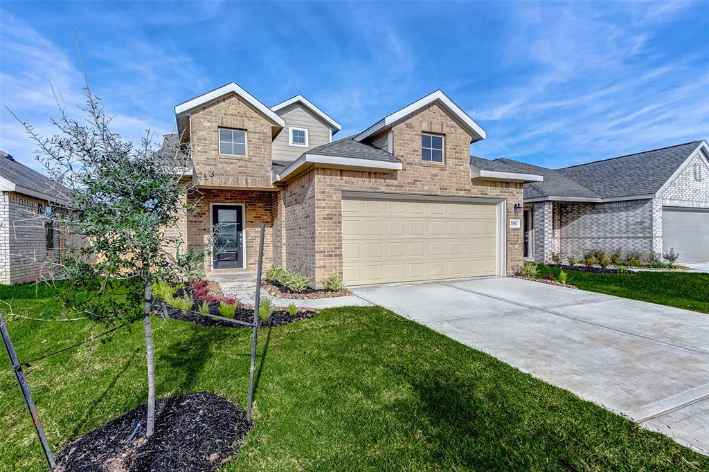
[{"label": "green front lawn left of the driveway, around the young tree", "polygon": [[[0,286],[17,311],[56,310],[51,291]],[[21,359],[85,336],[86,324],[12,320]],[[158,395],[208,390],[244,405],[250,332],[156,319]],[[225,471],[699,470],[668,437],[382,308],[323,310],[259,335],[255,428]],[[145,401],[143,332],[37,362],[28,382],[57,451]],[[0,470],[43,456],[6,360]]]}]

